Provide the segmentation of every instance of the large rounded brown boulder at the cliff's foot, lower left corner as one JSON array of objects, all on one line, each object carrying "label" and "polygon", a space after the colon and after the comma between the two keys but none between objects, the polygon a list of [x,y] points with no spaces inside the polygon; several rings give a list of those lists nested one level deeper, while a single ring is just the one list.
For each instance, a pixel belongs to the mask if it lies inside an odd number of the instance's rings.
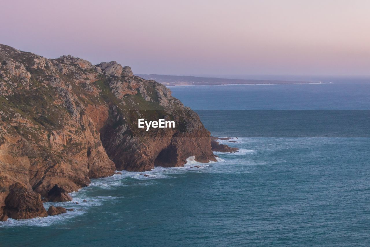
[{"label": "large rounded brown boulder at the cliff's foot, lower left corner", "polygon": [[4,211],[13,219],[47,216],[40,194],[29,190],[21,183],[10,186],[9,195],[5,199]]}]

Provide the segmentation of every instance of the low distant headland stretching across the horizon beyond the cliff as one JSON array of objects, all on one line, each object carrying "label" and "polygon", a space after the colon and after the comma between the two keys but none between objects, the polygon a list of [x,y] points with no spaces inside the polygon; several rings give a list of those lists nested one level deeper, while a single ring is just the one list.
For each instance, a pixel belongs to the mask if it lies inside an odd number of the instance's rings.
[{"label": "low distant headland stretching across the horizon beyond the cliff", "polygon": [[188,85],[231,85],[231,84],[306,84],[321,83],[311,81],[284,81],[284,80],[243,80],[226,79],[216,77],[196,76],[169,76],[163,74],[136,74],[146,80],[155,80],[166,86],[188,86]]}]

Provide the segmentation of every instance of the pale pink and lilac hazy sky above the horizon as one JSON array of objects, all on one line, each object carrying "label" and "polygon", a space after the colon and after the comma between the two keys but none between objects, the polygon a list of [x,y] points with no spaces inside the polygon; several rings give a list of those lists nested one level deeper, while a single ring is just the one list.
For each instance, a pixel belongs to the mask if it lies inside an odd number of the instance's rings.
[{"label": "pale pink and lilac hazy sky above the horizon", "polygon": [[0,43],[135,74],[370,75],[369,0],[0,0]]}]

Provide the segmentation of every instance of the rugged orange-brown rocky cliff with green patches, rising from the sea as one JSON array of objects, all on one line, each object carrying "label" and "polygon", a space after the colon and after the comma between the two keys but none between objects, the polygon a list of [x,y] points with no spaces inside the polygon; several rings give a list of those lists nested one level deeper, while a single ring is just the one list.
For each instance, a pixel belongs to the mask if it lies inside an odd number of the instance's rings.
[{"label": "rugged orange-brown rocky cliff with green patches, rising from the sea", "polygon": [[[181,126],[133,130],[135,117],[153,116]],[[215,160],[209,132],[162,84],[114,61],[46,59],[0,45],[0,220],[45,216],[33,193],[48,200],[56,184],[71,192],[116,168],[183,166],[189,156]],[[36,208],[28,210],[32,201]]]}]

